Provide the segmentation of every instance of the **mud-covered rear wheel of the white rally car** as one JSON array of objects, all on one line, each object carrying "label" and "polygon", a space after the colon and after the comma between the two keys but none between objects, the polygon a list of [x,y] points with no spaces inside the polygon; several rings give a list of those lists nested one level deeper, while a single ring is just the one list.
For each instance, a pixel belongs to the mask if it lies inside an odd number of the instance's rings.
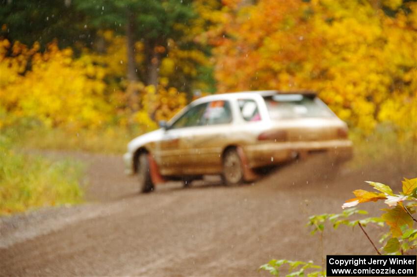
[{"label": "mud-covered rear wheel of the white rally car", "polygon": [[223,155],[222,178],[228,186],[236,186],[244,181],[243,164],[235,149],[230,149]]}]

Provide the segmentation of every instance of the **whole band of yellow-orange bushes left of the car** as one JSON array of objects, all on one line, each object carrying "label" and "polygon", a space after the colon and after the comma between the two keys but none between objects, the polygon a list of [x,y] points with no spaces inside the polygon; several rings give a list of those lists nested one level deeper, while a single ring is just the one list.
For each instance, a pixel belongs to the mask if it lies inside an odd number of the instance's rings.
[{"label": "whole band of yellow-orange bushes left of the car", "polygon": [[[0,127],[33,118],[46,126],[72,130],[109,123],[138,123],[149,130],[156,128],[155,121],[170,119],[186,104],[184,93],[167,88],[167,78],[161,78],[157,90],[140,82],[117,81],[126,74],[126,40],[112,32],[104,32],[103,37],[107,53],[84,50],[77,59],[70,48],[58,49],[56,42],[41,53],[37,43],[29,49],[1,40]],[[141,48],[141,44],[136,46]],[[10,48],[12,55],[7,55]],[[137,97],[131,98],[132,93]],[[136,102],[129,103],[132,99]],[[131,114],[129,106],[137,112]]]}]

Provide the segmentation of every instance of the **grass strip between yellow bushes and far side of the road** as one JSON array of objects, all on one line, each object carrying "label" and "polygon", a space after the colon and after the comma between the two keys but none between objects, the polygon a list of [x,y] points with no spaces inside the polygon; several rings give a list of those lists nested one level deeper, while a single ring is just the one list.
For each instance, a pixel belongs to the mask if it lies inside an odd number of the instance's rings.
[{"label": "grass strip between yellow bushes and far side of the road", "polygon": [[[4,124],[4,125],[2,125]],[[12,138],[14,145],[24,149],[89,151],[124,153],[128,142],[150,131],[150,127],[130,123],[120,125],[117,120],[100,127],[46,126],[36,118],[14,118],[0,107],[0,130]]]}]

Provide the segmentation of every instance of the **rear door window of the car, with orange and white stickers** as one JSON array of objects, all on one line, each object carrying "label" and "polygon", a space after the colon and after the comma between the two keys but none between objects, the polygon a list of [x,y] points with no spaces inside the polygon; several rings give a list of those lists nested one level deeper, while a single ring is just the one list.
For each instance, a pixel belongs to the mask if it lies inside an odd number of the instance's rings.
[{"label": "rear door window of the car, with orange and white stickers", "polygon": [[209,102],[203,114],[203,125],[227,124],[232,122],[232,110],[229,101]]}]

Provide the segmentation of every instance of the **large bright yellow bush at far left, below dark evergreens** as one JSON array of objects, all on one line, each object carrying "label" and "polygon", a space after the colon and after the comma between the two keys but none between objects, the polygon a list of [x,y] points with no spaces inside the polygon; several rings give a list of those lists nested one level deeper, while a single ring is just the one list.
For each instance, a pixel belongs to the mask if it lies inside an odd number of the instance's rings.
[{"label": "large bright yellow bush at far left, below dark evergreens", "polygon": [[[44,53],[16,42],[1,43],[1,106],[18,117],[32,117],[47,126],[100,126],[108,120],[103,70],[88,57],[74,60],[71,49],[52,42]],[[31,69],[26,71],[27,63]],[[2,122],[7,125],[7,122]]]}]

